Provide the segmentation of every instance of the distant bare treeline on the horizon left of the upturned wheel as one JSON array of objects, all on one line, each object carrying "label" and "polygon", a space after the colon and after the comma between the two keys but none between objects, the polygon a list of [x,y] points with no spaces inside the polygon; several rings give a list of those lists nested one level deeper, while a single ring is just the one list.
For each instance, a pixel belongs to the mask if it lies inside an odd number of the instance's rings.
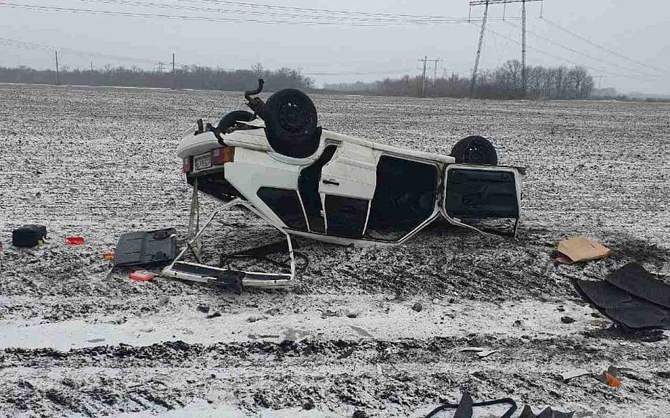
[{"label": "distant bare treeline on the horizon left of the upturned wheel", "polygon": [[202,90],[245,91],[255,88],[258,79],[265,79],[267,91],[282,88],[311,90],[314,82],[293,68],[264,70],[254,65],[251,70],[222,70],[185,65],[172,72],[141,68],[110,67],[94,70],[62,68],[57,77],[54,70],[35,70],[26,66],[0,67],[0,82],[27,84],[75,84],[89,86],[133,86],[163,88],[195,88]]}]

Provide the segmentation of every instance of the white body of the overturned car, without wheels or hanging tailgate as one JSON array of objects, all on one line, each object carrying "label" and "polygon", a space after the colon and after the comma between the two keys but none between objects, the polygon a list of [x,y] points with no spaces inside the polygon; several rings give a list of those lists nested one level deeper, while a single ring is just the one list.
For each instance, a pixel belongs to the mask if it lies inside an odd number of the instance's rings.
[{"label": "white body of the overturned car, without wheels or hanging tailgate", "polygon": [[[496,176],[507,176],[509,181],[514,183],[514,197],[516,199],[515,202],[508,203],[516,206],[516,218],[519,217],[519,208],[521,207],[520,173],[514,167],[455,164],[454,157],[449,155],[406,150],[328,130],[322,130],[318,150],[313,155],[306,158],[292,158],[275,153],[272,150],[266,139],[265,124],[262,120],[255,119],[244,123],[244,125],[246,125],[246,129],[234,130],[234,132],[221,135],[225,143],[223,148],[214,132],[198,132],[195,127],[184,132],[177,148],[177,154],[184,159],[184,167],[188,168],[186,176],[191,185],[196,184],[195,179],[200,179],[198,183],[200,190],[212,177],[218,178],[216,181],[219,183],[223,182],[222,178],[225,178],[225,183],[228,183],[238,192],[235,196],[247,201],[258,212],[261,212],[271,224],[290,235],[341,245],[396,245],[410,238],[440,215],[452,224],[464,226],[459,219],[462,214],[456,216],[450,213],[447,207],[446,196],[449,182],[445,179],[448,178],[449,172],[453,170],[461,170],[467,173],[480,171],[482,175],[491,173],[491,175]],[[320,181],[318,181],[318,199],[321,205],[318,215],[322,217],[322,221],[320,221],[315,210],[313,210],[317,203],[313,201],[314,199],[311,199],[311,205],[306,205],[305,200],[309,199],[306,199],[307,195],[301,189],[299,182],[301,172],[306,167],[315,164],[319,157],[324,155],[325,150],[332,146],[336,147],[334,154],[322,166]],[[213,164],[211,167],[198,167],[197,169],[194,167],[196,161],[204,162],[204,166],[207,166],[207,159],[216,159],[214,154],[223,152],[224,148],[229,148],[228,151],[230,151],[230,148],[234,148],[232,161],[218,165]],[[329,152],[332,152],[332,148],[329,149]],[[208,155],[209,157],[207,157]],[[389,167],[391,164],[398,164],[401,171],[415,169],[424,173],[431,171],[429,167],[434,167],[434,197],[430,191],[426,192],[424,196],[412,196],[415,200],[413,204],[416,206],[416,210],[422,212],[423,215],[414,219],[414,222],[409,222],[410,225],[405,226],[400,233],[378,233],[378,231],[369,229],[371,226],[371,212],[373,213],[373,223],[379,224],[380,222],[374,222],[375,213],[383,210],[381,208],[382,203],[377,204],[379,208],[376,208],[376,212],[371,210],[371,206],[375,202],[375,191],[378,191],[380,187],[385,187],[378,185],[378,167],[381,164],[386,164]],[[408,176],[411,175],[410,172],[407,174]],[[488,174],[486,175],[488,176]],[[415,186],[422,187],[421,185]],[[433,185],[430,185],[430,187],[433,187]],[[426,186],[427,189],[430,189],[430,187]],[[299,208],[299,215],[303,217],[304,224],[297,219],[295,213],[290,215],[292,222],[288,222],[288,216],[282,216],[281,213],[278,213],[282,210],[278,210],[277,207],[271,208],[268,204],[269,198],[263,199],[260,196],[260,191],[265,192],[266,190],[271,190],[271,193],[285,194],[285,196],[295,194],[296,201],[299,203],[299,206],[296,204],[295,208]],[[211,189],[209,191],[205,190],[205,192],[222,201],[232,199],[230,195],[217,195],[218,193],[212,192]],[[408,194],[411,194],[409,189]],[[416,203],[416,201],[420,201],[424,197],[426,199],[432,198],[432,203],[424,201],[423,206],[419,208],[422,203]],[[510,196],[505,196],[505,199],[509,201]],[[292,201],[292,199],[284,200]],[[348,204],[352,206],[346,206]],[[367,204],[366,209],[364,209],[365,204]],[[427,205],[429,204],[432,206],[432,210],[428,209]],[[358,212],[352,210],[354,206],[359,208],[357,209]],[[308,208],[312,208],[312,210]],[[346,218],[340,219],[341,217],[338,214],[331,212],[337,210],[337,208],[344,208],[353,212],[352,215],[347,216],[358,228],[346,226]],[[297,209],[295,212],[297,212]],[[321,223],[324,225],[321,226]],[[337,227],[336,224],[338,224]]]}]

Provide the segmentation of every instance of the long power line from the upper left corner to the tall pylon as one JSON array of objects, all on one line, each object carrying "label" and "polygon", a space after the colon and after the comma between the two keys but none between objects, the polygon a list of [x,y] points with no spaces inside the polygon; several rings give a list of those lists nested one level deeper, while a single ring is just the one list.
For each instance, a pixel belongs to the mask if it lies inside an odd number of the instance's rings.
[{"label": "long power line from the upper left corner to the tall pylon", "polygon": [[[110,3],[113,0],[108,0]],[[116,0],[120,1],[120,0]],[[118,10],[96,10],[87,8],[69,8],[57,6],[40,6],[34,4],[23,3],[0,3],[0,6],[6,8],[15,8],[20,10],[40,10],[47,12],[60,13],[79,13],[87,15],[109,15],[109,16],[124,16],[124,17],[144,17],[144,18],[162,18],[172,20],[193,20],[193,21],[207,21],[207,22],[239,22],[239,23],[257,23],[257,24],[297,24],[297,25],[329,25],[329,26],[362,26],[362,27],[387,27],[387,26],[408,26],[408,25],[436,25],[436,24],[458,24],[468,23],[472,20],[468,18],[448,18],[440,20],[409,20],[409,21],[390,21],[384,22],[378,19],[371,19],[369,22],[328,22],[326,20],[316,21],[299,21],[299,20],[260,20],[251,19],[248,17],[214,17],[214,16],[193,16],[193,15],[172,15],[167,13],[139,13],[139,12],[122,12]]]}]

